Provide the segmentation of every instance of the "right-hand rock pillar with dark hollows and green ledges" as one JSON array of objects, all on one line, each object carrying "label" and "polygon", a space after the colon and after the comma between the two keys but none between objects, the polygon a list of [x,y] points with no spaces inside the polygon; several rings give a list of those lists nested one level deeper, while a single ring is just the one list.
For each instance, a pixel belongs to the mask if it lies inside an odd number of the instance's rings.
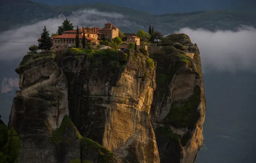
[{"label": "right-hand rock pillar with dark hollows and green ledges", "polygon": [[[195,163],[203,142],[204,85],[200,52],[184,33],[171,34],[169,45],[150,54],[157,62],[156,84],[150,110],[161,163]],[[196,48],[194,48],[196,47]],[[187,49],[194,49],[189,55]],[[193,58],[191,58],[193,57]]]}]

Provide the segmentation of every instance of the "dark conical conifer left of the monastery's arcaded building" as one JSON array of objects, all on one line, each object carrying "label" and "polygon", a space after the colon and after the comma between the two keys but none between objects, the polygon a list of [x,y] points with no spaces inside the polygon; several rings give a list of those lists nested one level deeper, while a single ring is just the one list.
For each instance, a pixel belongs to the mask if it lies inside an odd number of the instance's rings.
[{"label": "dark conical conifer left of the monastery's arcaded building", "polygon": [[41,38],[38,41],[40,42],[39,46],[38,46],[38,49],[48,50],[48,49],[52,48],[52,42],[51,42],[51,39],[50,39],[50,34],[46,30],[46,26],[44,26],[43,33],[41,34]]}]

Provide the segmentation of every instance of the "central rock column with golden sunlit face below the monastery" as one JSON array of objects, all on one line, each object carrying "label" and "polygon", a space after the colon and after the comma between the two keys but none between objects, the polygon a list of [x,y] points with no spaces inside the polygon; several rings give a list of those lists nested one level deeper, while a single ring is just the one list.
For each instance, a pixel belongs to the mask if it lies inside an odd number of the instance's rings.
[{"label": "central rock column with golden sunlit face below the monastery", "polygon": [[155,69],[139,51],[67,51],[70,117],[82,136],[132,163],[158,163],[149,119]]}]

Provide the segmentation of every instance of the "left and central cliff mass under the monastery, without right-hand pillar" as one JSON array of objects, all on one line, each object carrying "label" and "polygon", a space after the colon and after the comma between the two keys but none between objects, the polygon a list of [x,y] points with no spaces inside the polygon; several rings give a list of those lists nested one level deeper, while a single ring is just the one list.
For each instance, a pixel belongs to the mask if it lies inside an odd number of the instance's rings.
[{"label": "left and central cliff mass under the monastery, without right-hand pillar", "polygon": [[9,127],[21,139],[19,163],[159,163],[154,63],[129,50],[53,53],[27,54],[16,69]]}]

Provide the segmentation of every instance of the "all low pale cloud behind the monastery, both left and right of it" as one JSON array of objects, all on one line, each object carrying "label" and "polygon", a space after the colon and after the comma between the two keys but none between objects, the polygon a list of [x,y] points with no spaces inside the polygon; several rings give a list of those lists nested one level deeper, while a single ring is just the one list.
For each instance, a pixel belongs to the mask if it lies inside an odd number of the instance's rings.
[{"label": "all low pale cloud behind the monastery, both left and right of it", "polygon": [[[97,21],[95,21],[95,18],[97,18]],[[79,27],[103,27],[108,22],[107,18],[113,18],[115,20],[114,25],[120,29],[132,25],[136,26],[137,30],[143,28],[133,21],[128,21],[122,14],[98,12],[96,10],[74,12],[68,19],[73,22],[74,27],[76,25]],[[38,45],[37,39],[43,31],[43,26],[46,26],[50,34],[55,33],[64,19],[65,17],[60,15],[58,18],[40,21],[36,24],[0,33],[0,60],[3,62],[16,58],[22,59],[30,45]],[[148,29],[144,30],[147,31]],[[216,32],[204,29],[182,28],[175,32],[186,33],[193,43],[197,43],[201,52],[204,72],[212,68],[228,71],[236,71],[238,69],[255,71],[255,28],[241,26],[237,31],[219,30]]]}]

